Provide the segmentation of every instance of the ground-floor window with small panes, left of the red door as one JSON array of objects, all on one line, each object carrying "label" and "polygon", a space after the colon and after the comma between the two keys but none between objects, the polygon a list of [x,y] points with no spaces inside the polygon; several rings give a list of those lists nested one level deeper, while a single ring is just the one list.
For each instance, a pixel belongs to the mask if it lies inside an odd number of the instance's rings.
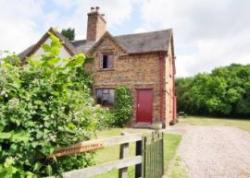
[{"label": "ground-floor window with small panes, left of the red door", "polygon": [[114,89],[96,89],[96,102],[103,106],[112,106],[114,104]]}]

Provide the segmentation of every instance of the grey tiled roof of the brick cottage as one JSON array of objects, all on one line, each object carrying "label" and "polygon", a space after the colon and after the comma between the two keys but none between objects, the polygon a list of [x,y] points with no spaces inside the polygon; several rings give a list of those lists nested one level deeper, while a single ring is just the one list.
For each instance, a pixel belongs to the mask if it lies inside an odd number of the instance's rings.
[{"label": "grey tiled roof of the brick cottage", "polygon": [[[70,51],[73,52],[73,54],[78,52],[87,53],[94,44],[97,43],[87,40],[69,41],[59,32],[54,32],[66,44]],[[167,51],[171,37],[172,29],[113,36],[116,42],[118,42],[128,54]],[[33,50],[34,46],[35,45],[30,46],[20,53],[19,56],[25,58]]]}]

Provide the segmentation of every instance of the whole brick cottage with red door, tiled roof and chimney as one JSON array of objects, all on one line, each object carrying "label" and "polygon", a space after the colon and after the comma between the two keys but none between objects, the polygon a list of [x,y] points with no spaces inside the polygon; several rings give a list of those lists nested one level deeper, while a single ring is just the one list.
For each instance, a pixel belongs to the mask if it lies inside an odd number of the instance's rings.
[{"label": "whole brick cottage with red door, tiled roof and chimney", "polygon": [[[85,40],[69,41],[55,29],[49,32],[63,43],[61,57],[79,52],[93,57],[85,65],[94,78],[93,94],[96,102],[112,106],[114,89],[127,86],[134,98],[131,126],[151,127],[162,123],[165,127],[176,120],[175,54],[172,29],[113,36],[106,29],[104,15],[99,8],[88,13]],[[19,56],[39,56],[41,46],[48,43],[48,32]]]}]

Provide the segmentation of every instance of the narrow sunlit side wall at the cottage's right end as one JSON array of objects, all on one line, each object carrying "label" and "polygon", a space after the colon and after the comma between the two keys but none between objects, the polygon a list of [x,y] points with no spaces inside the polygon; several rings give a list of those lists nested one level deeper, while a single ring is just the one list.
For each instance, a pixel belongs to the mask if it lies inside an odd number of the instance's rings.
[{"label": "narrow sunlit side wall at the cottage's right end", "polygon": [[165,57],[165,119],[169,123],[173,120],[173,102],[174,102],[174,73],[173,73],[173,51],[171,45],[169,45],[168,55]]}]

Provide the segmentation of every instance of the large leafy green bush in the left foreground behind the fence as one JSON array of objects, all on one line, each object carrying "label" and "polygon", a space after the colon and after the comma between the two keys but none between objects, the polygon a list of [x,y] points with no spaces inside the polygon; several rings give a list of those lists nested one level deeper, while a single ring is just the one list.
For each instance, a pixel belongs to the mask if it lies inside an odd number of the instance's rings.
[{"label": "large leafy green bush in the left foreground behind the fence", "polygon": [[54,150],[90,138],[102,109],[90,96],[83,54],[58,57],[51,35],[41,58],[21,65],[15,56],[0,67],[0,177],[40,177],[92,164],[92,154],[48,159]]}]

